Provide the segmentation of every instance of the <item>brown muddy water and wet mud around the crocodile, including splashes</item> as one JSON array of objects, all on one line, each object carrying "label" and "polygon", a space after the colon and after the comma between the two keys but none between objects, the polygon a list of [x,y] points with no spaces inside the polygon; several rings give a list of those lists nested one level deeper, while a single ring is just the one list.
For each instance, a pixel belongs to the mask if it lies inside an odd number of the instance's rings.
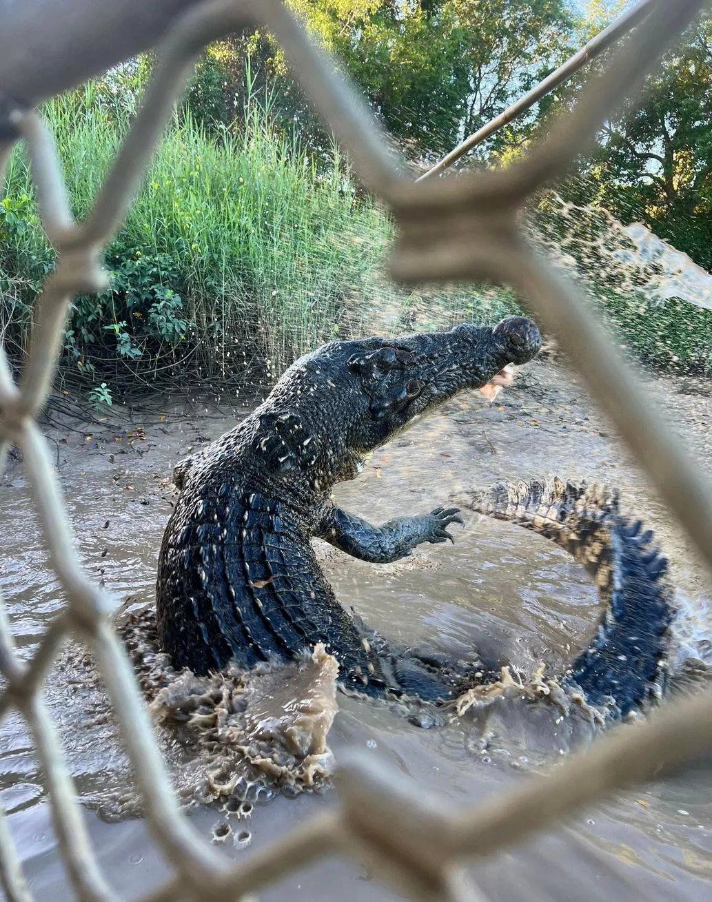
[{"label": "brown muddy water and wet mud around the crocodile, including splashes", "polygon": [[[708,470],[709,382],[650,379],[648,390],[684,436],[694,465]],[[81,556],[116,599],[119,621],[134,624],[129,653],[152,704],[164,757],[206,836],[238,858],[264,849],[335,804],[328,776],[354,753],[408,775],[415,792],[433,792],[449,809],[476,803],[600,732],[596,713],[553,679],[595,627],[594,586],[544,539],[471,514],[454,548],[421,547],[391,565],[365,564],[316,543],[340,601],[384,635],[427,642],[449,656],[476,648],[501,660],[499,685],[464,696],[459,707],[416,710],[336,693],[333,661],[319,651],[290,668],[250,675],[173,674],[151,646],[150,619],[142,620],[174,499],[171,468],[244,413],[225,398],[176,399],[117,408],[88,423],[61,400],[44,426]],[[655,529],[682,608],[673,667],[692,686],[694,667],[704,674],[712,661],[704,570],[610,425],[560,364],[528,366],[491,404],[477,393],[450,403],[376,452],[364,474],[337,487],[337,497],[347,510],[378,523],[429,511],[474,486],[555,474],[614,485],[624,510]],[[32,519],[21,460],[10,460],[3,483],[0,586],[18,646],[29,657],[62,597]],[[123,895],[138,897],[167,871],[140,817],[106,823],[139,815],[140,806],[100,680],[79,646],[63,649],[45,697],[99,860]],[[41,774],[16,715],[0,724],[0,793],[36,896],[71,897]],[[476,863],[474,874],[493,899],[612,892],[625,899],[706,897],[710,803],[704,775],[644,788]],[[362,866],[341,861],[319,865],[261,898],[337,891],[346,899],[393,898]]]}]

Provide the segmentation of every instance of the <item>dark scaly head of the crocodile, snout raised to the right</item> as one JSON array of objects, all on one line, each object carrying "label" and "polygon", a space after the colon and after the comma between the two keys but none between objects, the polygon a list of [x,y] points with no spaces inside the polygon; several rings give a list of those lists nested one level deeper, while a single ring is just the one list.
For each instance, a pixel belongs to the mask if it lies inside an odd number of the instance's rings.
[{"label": "dark scaly head of the crocodile, snout raised to the right", "polygon": [[317,489],[352,479],[364,457],[415,419],[541,347],[530,319],[400,339],[336,341],[306,354],[254,412],[253,447],[274,475]]}]

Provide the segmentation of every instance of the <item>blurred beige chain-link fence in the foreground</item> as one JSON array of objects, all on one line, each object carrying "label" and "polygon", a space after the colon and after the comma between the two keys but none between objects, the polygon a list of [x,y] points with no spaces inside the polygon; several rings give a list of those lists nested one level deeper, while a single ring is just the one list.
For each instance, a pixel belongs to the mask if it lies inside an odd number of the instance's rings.
[{"label": "blurred beige chain-link fence in the foreground", "polygon": [[[143,4],[143,9],[133,0],[89,5],[77,0],[48,6],[48,20],[43,25],[37,24],[42,21],[42,3],[19,5],[5,0],[0,4],[5,7],[0,46],[12,50],[9,57],[0,54],[0,85],[7,89],[0,96],[0,171],[14,140],[23,140],[43,226],[58,252],[57,267],[34,311],[32,344],[19,382],[14,382],[5,351],[0,349],[0,438],[3,457],[11,445],[23,451],[51,565],[67,598],[66,608],[51,622],[28,663],[23,663],[14,649],[13,632],[0,604],[0,672],[5,682],[0,718],[16,709],[29,724],[51,799],[60,852],[77,897],[108,900],[115,894],[90,849],[55,727],[42,703],[44,676],[70,632],[87,644],[97,660],[143,796],[146,822],[171,862],[172,879],[146,897],[154,902],[174,898],[227,902],[335,853],[367,861],[383,879],[414,898],[478,898],[478,891],[467,885],[461,870],[468,856],[486,856],[550,827],[608,793],[679,771],[686,762],[712,749],[712,694],[705,693],[663,707],[647,723],[615,731],[587,752],[563,762],[547,780],[522,782],[477,810],[457,816],[442,815],[425,805],[420,795],[416,799],[412,787],[400,778],[356,759],[338,771],[339,805],[333,811],[314,817],[236,866],[180,814],[142,696],[112,629],[114,605],[82,573],[56,474],[35,422],[50,391],[70,299],[75,293],[105,286],[99,253],[125,215],[196,55],[208,41],[256,23],[280,42],[301,86],[337,134],[365,185],[393,209],[400,224],[393,276],[406,282],[483,279],[513,285],[576,362],[602,409],[687,529],[702,559],[712,565],[709,486],[652,410],[601,327],[547,263],[532,253],[517,226],[522,205],[532,192],[568,170],[615,108],[622,88],[628,92],[638,89],[646,71],[706,5],[701,0],[653,4],[651,14],[637,27],[613,66],[590,84],[573,113],[555,125],[547,142],[524,161],[505,171],[414,184],[393,161],[368,110],[334,74],[332,60],[312,45],[277,0],[259,4],[256,0],[166,0]],[[58,15],[57,7],[62,8],[64,19],[52,43],[51,21]],[[131,19],[132,13],[136,19]],[[72,22],[75,48],[86,46],[86,55],[76,49],[69,52]],[[51,135],[40,116],[28,107],[149,46],[169,25],[143,108],[93,210],[83,222],[75,223]],[[25,104],[15,97],[23,97]],[[11,902],[32,898],[2,810],[0,874]]]}]

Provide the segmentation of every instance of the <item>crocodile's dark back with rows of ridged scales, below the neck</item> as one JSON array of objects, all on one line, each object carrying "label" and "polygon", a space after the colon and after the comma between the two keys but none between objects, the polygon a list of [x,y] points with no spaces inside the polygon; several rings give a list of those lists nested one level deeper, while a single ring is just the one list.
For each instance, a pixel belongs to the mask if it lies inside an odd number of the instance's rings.
[{"label": "crocodile's dark back with rows of ridged scales, below the neck", "polygon": [[156,607],[177,667],[254,667],[323,642],[345,683],[376,695],[388,682],[324,578],[300,517],[249,491],[239,475],[192,483],[180,495],[163,536]]}]

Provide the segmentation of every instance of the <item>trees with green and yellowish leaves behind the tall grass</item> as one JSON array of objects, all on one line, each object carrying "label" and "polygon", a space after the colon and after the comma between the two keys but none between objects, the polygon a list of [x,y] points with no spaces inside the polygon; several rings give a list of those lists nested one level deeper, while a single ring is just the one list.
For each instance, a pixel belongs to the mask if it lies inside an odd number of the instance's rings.
[{"label": "trees with green and yellowish leaves behind the tall grass", "polygon": [[[521,97],[629,0],[589,0],[583,10],[570,0],[288,3],[338,54],[402,150],[431,161]],[[245,78],[247,58],[252,68]],[[463,164],[521,152],[552,110],[575,100],[590,74],[591,67],[583,69]],[[245,33],[216,45],[201,64],[190,104],[200,118],[226,122],[245,93],[270,85],[273,114],[319,152],[323,133],[269,35]],[[579,161],[578,176],[569,197],[605,206],[625,223],[643,220],[712,268],[712,16],[667,54],[648,79],[642,106],[628,104],[606,122],[596,152]]]}]

